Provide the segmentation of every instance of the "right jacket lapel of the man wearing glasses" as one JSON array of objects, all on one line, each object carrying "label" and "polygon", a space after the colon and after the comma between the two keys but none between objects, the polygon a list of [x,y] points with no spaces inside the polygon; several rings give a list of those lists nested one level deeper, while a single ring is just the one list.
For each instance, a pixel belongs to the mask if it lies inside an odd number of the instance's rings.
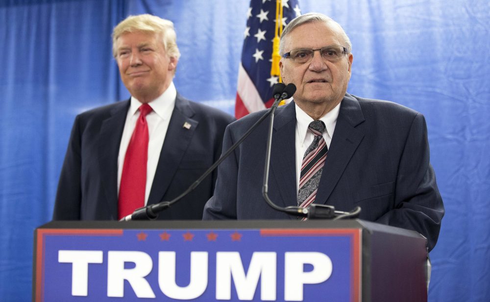
[{"label": "right jacket lapel of the man wearing glasses", "polygon": [[345,167],[361,143],[364,133],[355,127],[364,120],[359,101],[349,94],[345,94],[320,178],[316,197],[317,203],[327,202]]}]

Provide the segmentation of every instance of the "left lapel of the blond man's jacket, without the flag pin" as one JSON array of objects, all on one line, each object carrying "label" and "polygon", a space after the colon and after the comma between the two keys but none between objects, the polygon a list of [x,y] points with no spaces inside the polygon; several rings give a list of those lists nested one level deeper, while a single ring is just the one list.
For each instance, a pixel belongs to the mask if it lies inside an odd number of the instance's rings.
[{"label": "left lapel of the blond man's jacket, without the flag pin", "polygon": [[98,143],[98,166],[107,208],[113,219],[118,217],[118,156],[129,101],[121,101],[111,109],[110,117],[102,122]]}]

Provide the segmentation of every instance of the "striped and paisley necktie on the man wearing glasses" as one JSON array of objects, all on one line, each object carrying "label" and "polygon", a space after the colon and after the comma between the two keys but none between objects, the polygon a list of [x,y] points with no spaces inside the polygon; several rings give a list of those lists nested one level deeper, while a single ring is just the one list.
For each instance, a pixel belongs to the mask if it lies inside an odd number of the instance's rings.
[{"label": "striped and paisley necktie on the man wearing glasses", "polygon": [[327,157],[327,145],[321,133],[325,129],[322,121],[313,121],[308,128],[313,132],[315,138],[311,145],[306,149],[301,164],[301,175],[299,178],[298,205],[307,207],[315,201],[321,172],[325,158]]}]

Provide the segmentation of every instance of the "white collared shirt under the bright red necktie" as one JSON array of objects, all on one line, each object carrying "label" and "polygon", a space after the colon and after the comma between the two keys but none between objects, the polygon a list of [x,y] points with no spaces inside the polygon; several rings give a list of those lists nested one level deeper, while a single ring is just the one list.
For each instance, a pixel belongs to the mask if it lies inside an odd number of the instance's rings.
[{"label": "white collared shirt under the bright red necktie", "polygon": [[[147,162],[147,185],[145,189],[145,205],[148,202],[148,197],[150,195],[151,184],[153,183],[153,178],[155,177],[156,166],[158,165],[158,160],[160,158],[160,152],[162,151],[163,142],[167,134],[167,129],[169,128],[170,118],[172,116],[173,108],[175,107],[175,98],[177,96],[177,90],[170,83],[169,88],[165,92],[156,98],[155,100],[149,102],[148,104],[153,109],[147,115],[148,124],[148,162]],[[127,146],[129,145],[129,140],[133,134],[136,121],[140,116],[140,111],[138,110],[142,103],[136,98],[131,97],[131,104],[126,116],[126,122],[124,124],[123,137],[121,138],[121,145],[119,147],[118,156],[118,196],[119,188],[121,185],[121,175],[123,174],[124,157],[126,155]]]}]

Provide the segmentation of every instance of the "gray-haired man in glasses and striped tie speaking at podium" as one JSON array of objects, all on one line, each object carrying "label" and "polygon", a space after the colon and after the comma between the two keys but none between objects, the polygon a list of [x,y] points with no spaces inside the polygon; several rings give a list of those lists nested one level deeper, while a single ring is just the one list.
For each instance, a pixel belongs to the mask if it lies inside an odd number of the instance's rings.
[{"label": "gray-haired man in glasses and striped tie speaking at podium", "polygon": [[[346,93],[353,55],[349,38],[317,13],[295,18],[280,42],[283,82],[294,83],[294,102],[276,111],[269,196],[279,206],[312,202],[360,218],[416,230],[437,242],[444,207],[424,117],[401,105]],[[262,116],[229,125],[227,149]],[[287,219],[262,197],[267,123],[256,129],[218,172],[204,219]]]}]

